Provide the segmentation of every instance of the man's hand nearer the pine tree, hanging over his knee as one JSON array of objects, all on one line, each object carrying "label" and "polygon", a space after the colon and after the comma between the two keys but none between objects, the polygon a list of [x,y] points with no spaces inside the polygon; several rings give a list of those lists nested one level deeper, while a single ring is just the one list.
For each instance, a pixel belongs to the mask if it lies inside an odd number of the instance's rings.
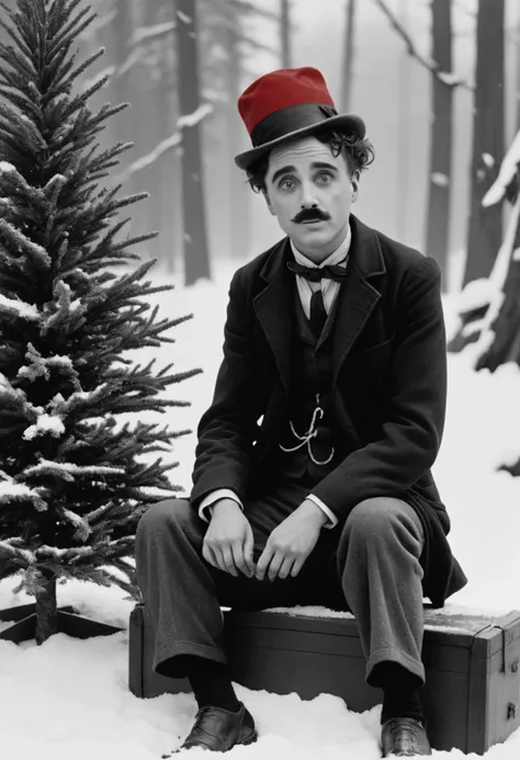
[{"label": "man's hand nearer the pine tree, hanging over his knee", "polygon": [[213,567],[237,577],[238,570],[251,578],[253,536],[249,520],[234,499],[219,499],[204,536],[202,556]]}]

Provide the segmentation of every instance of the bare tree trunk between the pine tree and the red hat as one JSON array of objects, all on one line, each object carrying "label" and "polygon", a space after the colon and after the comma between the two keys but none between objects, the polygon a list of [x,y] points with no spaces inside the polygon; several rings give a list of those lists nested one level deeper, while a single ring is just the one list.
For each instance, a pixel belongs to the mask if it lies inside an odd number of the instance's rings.
[{"label": "bare tree trunk between the pine tree and the red hat", "polygon": [[201,125],[193,116],[201,105],[195,0],[176,0],[178,91],[182,126],[182,219],[184,282],[210,277],[203,196]]}]

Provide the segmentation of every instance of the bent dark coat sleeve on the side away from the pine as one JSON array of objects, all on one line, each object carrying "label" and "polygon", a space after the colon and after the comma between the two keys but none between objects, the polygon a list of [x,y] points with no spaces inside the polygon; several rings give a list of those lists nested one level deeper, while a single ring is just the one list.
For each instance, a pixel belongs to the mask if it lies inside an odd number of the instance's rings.
[{"label": "bent dark coat sleeve on the side away from the pine", "polygon": [[404,275],[383,434],[349,454],[315,488],[341,520],[364,499],[403,498],[436,461],[444,427],[446,347],[440,270],[421,259]]}]

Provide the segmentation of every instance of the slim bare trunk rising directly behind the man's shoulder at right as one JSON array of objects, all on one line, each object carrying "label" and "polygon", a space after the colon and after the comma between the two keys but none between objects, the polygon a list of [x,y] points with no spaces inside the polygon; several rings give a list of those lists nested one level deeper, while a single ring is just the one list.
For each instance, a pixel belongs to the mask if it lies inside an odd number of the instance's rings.
[{"label": "slim bare trunk rising directly behind the man's shoulder at right", "polygon": [[[432,58],[441,71],[452,70],[452,0],[432,0]],[[453,88],[433,77],[433,102],[428,184],[426,253],[441,268],[442,287],[448,285],[450,232]]]}]

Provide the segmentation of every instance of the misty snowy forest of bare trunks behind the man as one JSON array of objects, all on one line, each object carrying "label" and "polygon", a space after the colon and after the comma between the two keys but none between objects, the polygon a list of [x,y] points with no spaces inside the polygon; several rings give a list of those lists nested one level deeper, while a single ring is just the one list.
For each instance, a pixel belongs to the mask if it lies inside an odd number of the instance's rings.
[{"label": "misty snowy forest of bare trunks behind the man", "polygon": [[150,198],[134,207],[128,231],[161,234],[142,247],[143,257],[158,257],[192,284],[281,237],[234,165],[249,147],[236,102],[269,70],[315,66],[338,110],[365,120],[376,149],[354,213],[434,256],[445,291],[489,274],[511,212],[481,201],[520,128],[518,0],[90,5],[99,18],[81,37],[80,56],[101,46],[105,54],[83,87],[110,75],[93,105],[132,104],[101,144],[135,144],[118,179],[126,193]]}]

